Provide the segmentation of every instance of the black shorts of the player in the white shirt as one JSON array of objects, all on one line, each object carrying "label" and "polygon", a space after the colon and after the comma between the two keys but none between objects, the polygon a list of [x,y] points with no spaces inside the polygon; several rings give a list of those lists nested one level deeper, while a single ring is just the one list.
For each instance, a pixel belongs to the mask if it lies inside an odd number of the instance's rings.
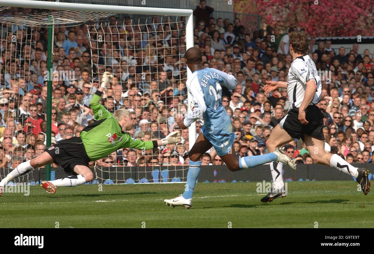
[{"label": "black shorts of the player in the white shirt", "polygon": [[316,139],[325,140],[322,129],[324,128],[324,114],[316,105],[309,105],[305,110],[307,124],[300,123],[299,109],[291,109],[287,115],[279,119],[279,126],[284,129],[292,138],[303,139],[307,134]]}]

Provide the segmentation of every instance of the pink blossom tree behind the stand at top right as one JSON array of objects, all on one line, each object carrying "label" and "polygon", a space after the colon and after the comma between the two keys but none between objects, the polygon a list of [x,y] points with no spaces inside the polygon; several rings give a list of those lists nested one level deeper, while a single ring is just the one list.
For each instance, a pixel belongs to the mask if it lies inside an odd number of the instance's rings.
[{"label": "pink blossom tree behind the stand at top right", "polygon": [[365,0],[234,0],[234,11],[263,25],[295,26],[309,36],[373,36],[374,4]]}]

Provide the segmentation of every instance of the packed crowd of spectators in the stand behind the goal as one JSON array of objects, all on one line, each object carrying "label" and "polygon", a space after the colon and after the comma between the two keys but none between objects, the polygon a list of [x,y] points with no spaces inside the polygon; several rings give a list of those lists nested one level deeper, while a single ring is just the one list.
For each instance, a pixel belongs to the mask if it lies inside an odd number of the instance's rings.
[{"label": "packed crowd of spectators in the stand behind the goal", "polygon": [[[267,26],[249,34],[239,19],[213,19],[204,0],[194,11],[194,47],[200,48],[203,66],[226,69],[237,79],[233,91],[222,90],[222,106],[232,118],[237,135],[237,156],[267,153],[266,140],[288,110],[286,89],[263,91],[266,81],[286,81],[292,63],[285,33]],[[28,14],[29,9],[3,13]],[[120,24],[119,24],[120,23]],[[284,28],[283,28],[284,30]],[[114,78],[101,103],[109,112],[131,110],[134,138],[164,138],[181,132],[181,143],[153,150],[124,148],[91,166],[181,166],[188,165],[188,129],[176,122],[187,110],[185,20],[132,25],[114,16],[95,25],[56,26],[52,80],[52,144],[74,136],[94,121],[90,108],[93,93],[105,71]],[[0,29],[0,167],[19,163],[43,153],[47,122],[47,30],[9,25]],[[15,39],[14,39],[15,38]],[[322,81],[317,106],[324,113],[325,150],[349,163],[374,161],[374,59],[369,50],[359,54],[359,44],[333,49],[332,41],[310,38],[309,54],[317,69],[331,73]],[[329,72],[328,72],[329,71]],[[61,74],[62,73],[62,74]],[[71,79],[67,73],[73,73]],[[203,119],[196,122],[197,135]],[[313,163],[301,140],[285,145],[286,154],[297,163]],[[202,156],[203,165],[222,165],[211,148]],[[53,164],[54,167],[58,165]]]}]

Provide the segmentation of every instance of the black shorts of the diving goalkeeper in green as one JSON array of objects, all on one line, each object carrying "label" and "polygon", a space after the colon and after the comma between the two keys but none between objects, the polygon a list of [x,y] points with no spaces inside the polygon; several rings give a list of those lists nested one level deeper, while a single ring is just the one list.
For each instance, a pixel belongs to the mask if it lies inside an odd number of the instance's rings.
[{"label": "black shorts of the diving goalkeeper in green", "polygon": [[74,167],[76,165],[89,167],[88,163],[91,162],[80,137],[62,140],[44,151],[49,153],[53,162],[64,168],[68,175],[78,175],[74,172]]}]

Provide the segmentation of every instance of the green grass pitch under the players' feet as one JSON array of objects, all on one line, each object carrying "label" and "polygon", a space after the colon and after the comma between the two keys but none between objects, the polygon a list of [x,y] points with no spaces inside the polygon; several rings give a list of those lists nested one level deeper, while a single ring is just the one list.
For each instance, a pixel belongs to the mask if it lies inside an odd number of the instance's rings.
[{"label": "green grass pitch under the players' feet", "polygon": [[[374,202],[353,181],[288,182],[288,196],[260,202],[256,183],[197,183],[192,207],[168,207],[184,184],[82,185],[50,195],[0,197],[0,228],[361,228],[374,227]],[[359,220],[357,219],[359,218]],[[231,222],[231,224],[230,224]]]}]

